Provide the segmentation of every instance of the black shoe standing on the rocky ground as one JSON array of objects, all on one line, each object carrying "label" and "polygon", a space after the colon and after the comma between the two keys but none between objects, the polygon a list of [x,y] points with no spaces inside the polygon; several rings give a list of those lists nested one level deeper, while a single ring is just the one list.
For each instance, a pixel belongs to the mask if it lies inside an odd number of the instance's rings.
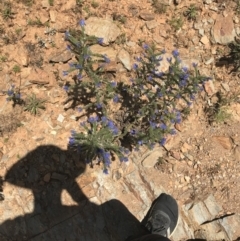
[{"label": "black shoe standing on the rocky ground", "polygon": [[142,224],[152,234],[170,237],[178,223],[178,205],[176,200],[162,193],[152,204]]}]

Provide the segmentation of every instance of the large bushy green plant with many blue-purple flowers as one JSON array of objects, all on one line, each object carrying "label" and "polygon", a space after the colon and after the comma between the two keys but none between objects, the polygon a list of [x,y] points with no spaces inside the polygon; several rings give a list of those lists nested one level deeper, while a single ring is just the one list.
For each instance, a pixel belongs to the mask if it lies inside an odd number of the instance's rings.
[{"label": "large bushy green plant with many blue-purple flowers", "polygon": [[[103,39],[87,36],[84,20],[80,21],[80,28],[77,37],[66,33],[68,49],[75,53],[77,61],[63,74],[78,72],[75,83],[64,89],[69,96],[75,96],[79,90],[89,93],[87,100],[77,98],[85,105],[80,111],[85,109],[90,116],[81,123],[85,132],[72,131],[69,145],[76,147],[86,162],[96,159],[102,162],[107,173],[111,154],[127,161],[129,150],[137,151],[141,145],[163,146],[168,135],[176,134],[173,126],[182,121],[180,102],[190,106],[209,78],[199,74],[195,63],[193,71],[183,67],[178,50],[167,58],[168,71],[161,72],[165,51],[158,52],[154,46],[143,44],[143,54],[133,64],[129,83],[109,80],[104,74],[109,58],[93,54],[89,48],[102,44]],[[120,108],[112,110],[110,103],[118,103]]]}]

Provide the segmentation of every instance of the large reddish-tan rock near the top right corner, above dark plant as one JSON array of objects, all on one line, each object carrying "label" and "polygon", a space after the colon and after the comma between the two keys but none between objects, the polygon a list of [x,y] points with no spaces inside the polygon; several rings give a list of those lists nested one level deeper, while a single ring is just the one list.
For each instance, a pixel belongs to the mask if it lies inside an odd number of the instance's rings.
[{"label": "large reddish-tan rock near the top right corner, above dark plant", "polygon": [[227,17],[219,15],[212,28],[212,35],[215,41],[219,44],[229,44],[234,41],[236,32],[232,15],[229,14]]}]

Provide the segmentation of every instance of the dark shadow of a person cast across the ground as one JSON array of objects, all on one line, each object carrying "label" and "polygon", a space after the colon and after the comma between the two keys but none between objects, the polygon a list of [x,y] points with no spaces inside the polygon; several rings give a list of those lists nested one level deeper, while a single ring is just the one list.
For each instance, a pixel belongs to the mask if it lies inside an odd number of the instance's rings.
[{"label": "dark shadow of a person cast across the ground", "polygon": [[[7,172],[5,181],[32,191],[33,211],[4,221],[0,234],[16,241],[120,241],[145,234],[140,222],[120,201],[96,205],[87,199],[75,180],[85,168],[74,150],[53,145],[37,147],[20,159]],[[63,190],[75,205],[62,204]]]}]

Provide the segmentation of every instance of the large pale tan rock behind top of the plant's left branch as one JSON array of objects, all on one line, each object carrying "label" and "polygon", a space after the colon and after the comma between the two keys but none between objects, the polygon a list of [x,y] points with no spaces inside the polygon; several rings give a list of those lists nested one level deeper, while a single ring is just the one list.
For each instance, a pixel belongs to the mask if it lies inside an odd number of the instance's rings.
[{"label": "large pale tan rock behind top of the plant's left branch", "polygon": [[86,20],[85,33],[88,35],[103,38],[103,43],[108,45],[114,42],[121,34],[120,28],[111,20],[90,17]]}]

